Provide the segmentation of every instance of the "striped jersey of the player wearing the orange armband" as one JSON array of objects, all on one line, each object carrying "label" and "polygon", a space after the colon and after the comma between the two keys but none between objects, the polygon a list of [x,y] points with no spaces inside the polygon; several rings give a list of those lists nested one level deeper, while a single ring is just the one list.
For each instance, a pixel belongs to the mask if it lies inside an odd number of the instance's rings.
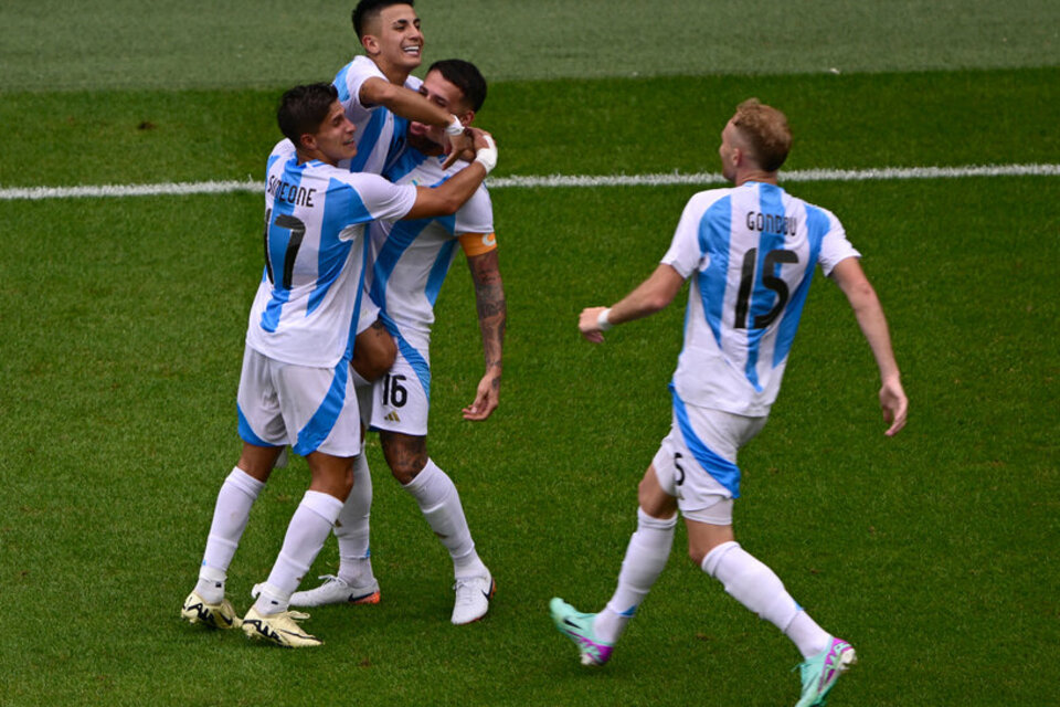
[{"label": "striped jersey of the player wearing the orange armband", "polygon": [[[467,167],[458,161],[442,169],[444,157],[407,148],[383,175],[398,184],[434,187]],[[377,221],[369,229],[372,270],[369,292],[383,323],[402,341],[427,358],[434,303],[465,233],[494,234],[494,207],[480,186],[451,217],[414,221]],[[402,348],[404,352],[404,347]]]}]

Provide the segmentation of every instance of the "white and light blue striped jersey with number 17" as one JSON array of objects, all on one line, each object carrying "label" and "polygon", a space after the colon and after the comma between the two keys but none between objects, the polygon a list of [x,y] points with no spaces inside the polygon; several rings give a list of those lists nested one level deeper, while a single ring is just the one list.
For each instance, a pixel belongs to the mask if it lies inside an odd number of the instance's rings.
[{"label": "white and light blue striped jersey with number 17", "polygon": [[352,354],[368,261],[367,223],[400,219],[414,187],[311,160],[282,140],[268,157],[265,274],[251,307],[247,345],[299,366],[332,368]]}]

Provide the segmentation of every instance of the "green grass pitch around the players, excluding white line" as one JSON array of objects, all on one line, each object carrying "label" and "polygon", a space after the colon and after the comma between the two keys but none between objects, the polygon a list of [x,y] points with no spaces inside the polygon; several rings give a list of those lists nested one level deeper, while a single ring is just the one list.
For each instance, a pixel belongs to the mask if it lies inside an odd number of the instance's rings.
[{"label": "green grass pitch around the players, excluding white line", "polygon": [[[0,189],[261,178],[279,93],[348,57],[348,8],[201,4],[6,8]],[[428,61],[467,55],[496,78],[479,120],[501,177],[717,171],[718,133],[750,95],[788,113],[793,170],[1060,163],[1054,3],[740,6],[754,25],[692,0],[650,17],[632,2],[420,4]],[[489,32],[460,20],[481,14]],[[296,40],[307,51],[275,62]],[[287,652],[178,619],[240,446],[261,196],[0,199],[0,705],[794,704],[797,652],[688,562],[683,530],[604,669],[579,666],[548,618],[552,595],[595,610],[614,588],[668,426],[683,307],[603,347],[580,340],[576,315],[654,268],[696,190],[494,190],[501,407],[459,416],[481,352],[457,263],[431,421],[498,580],[490,614],[448,623],[448,558],[372,441],[383,602],[315,611],[326,645]],[[738,537],[858,647],[830,705],[1054,703],[1060,179],[791,190],[862,252],[910,423],[884,439],[868,347],[820,279],[741,456]],[[295,460],[255,505],[229,578],[239,610],[307,478]],[[337,561],[329,542],[310,576]]]}]

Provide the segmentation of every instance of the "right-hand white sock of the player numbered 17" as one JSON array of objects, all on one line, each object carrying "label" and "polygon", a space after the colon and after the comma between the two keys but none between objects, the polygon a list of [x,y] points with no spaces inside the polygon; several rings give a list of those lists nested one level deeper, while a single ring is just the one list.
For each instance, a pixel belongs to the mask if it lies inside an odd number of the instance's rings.
[{"label": "right-hand white sock of the player numbered 17", "polygon": [[342,502],[335,496],[316,490],[306,492],[287,526],[284,546],[273,564],[273,571],[268,573],[268,581],[254,602],[258,613],[287,611],[290,595],[317,559],[341,510]]}]

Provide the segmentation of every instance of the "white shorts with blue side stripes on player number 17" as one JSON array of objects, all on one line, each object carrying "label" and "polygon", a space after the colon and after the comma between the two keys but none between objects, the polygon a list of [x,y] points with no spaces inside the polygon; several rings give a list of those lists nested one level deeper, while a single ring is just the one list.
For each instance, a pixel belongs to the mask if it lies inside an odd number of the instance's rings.
[{"label": "white shorts with blue side stripes on player number 17", "polygon": [[258,446],[290,444],[296,454],[357,456],[361,425],[343,359],[333,369],[283,363],[246,347],[240,376],[240,437]]}]

